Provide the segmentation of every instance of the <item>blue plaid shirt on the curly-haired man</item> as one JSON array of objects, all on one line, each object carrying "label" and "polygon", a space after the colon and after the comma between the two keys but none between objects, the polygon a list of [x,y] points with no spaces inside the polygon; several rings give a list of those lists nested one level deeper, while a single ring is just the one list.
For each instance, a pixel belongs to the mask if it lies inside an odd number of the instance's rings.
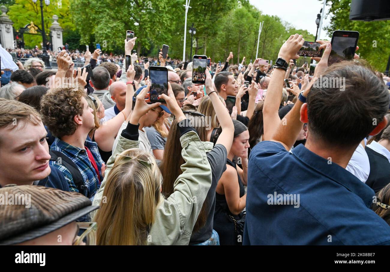
[{"label": "blue plaid shirt on the curly-haired man", "polygon": [[[99,150],[97,149],[97,143],[85,140],[84,145],[92,153],[97,165],[97,169],[99,169],[100,180],[103,180],[103,177],[101,176],[101,166],[104,162],[102,161]],[[96,171],[89,161],[87,150],[69,145],[58,138],[55,138],[53,144],[50,147],[50,150],[57,150],[67,155],[77,165],[78,170],[84,179],[85,185],[88,187],[88,198],[90,198],[92,201],[96,191],[100,187],[100,184],[99,178],[96,175]],[[69,183],[69,191],[78,192],[76,185],[74,185],[72,175],[67,170],[67,168],[55,161],[50,161],[50,164],[57,167],[64,174],[65,179]]]}]

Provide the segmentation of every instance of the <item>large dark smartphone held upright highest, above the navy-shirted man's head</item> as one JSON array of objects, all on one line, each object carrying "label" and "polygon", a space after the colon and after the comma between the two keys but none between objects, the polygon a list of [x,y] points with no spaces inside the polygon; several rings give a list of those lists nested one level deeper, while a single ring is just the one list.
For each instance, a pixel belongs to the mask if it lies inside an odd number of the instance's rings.
[{"label": "large dark smartphone held upright highest, above the navy-shirted man's head", "polygon": [[329,55],[328,65],[342,60],[352,60],[358,45],[359,32],[335,30],[332,35],[332,51]]}]

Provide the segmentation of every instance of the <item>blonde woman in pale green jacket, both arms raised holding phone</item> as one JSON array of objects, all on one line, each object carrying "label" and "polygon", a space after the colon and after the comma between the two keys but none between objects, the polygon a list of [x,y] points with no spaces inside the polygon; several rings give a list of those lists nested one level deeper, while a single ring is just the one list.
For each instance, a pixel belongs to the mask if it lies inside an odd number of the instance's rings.
[{"label": "blonde woman in pale green jacket, both arms raised holding phone", "polygon": [[[150,83],[137,95],[128,126],[108,160],[105,179],[93,205],[101,205],[94,216],[98,245],[188,245],[193,226],[211,185],[211,168],[196,131],[188,126],[168,83],[161,95],[176,116],[181,130],[183,173],[175,181],[175,192],[167,199],[154,156],[138,149],[138,122],[151,108],[145,95]],[[194,201],[196,200],[196,201]]]}]

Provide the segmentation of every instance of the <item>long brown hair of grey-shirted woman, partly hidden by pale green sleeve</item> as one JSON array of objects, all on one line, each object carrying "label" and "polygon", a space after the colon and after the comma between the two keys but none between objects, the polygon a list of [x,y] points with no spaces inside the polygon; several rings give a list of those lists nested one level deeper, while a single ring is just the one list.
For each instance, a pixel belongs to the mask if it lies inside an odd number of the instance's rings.
[{"label": "long brown hair of grey-shirted woman, partly hidden by pale green sleeve", "polygon": [[[196,111],[189,110],[191,112],[197,113]],[[199,135],[199,139],[201,141],[207,141],[207,132],[206,132],[206,126],[200,124],[200,122],[195,122],[195,118],[200,118],[200,116],[193,115],[193,114],[187,114],[187,119],[191,124],[193,125],[193,128],[196,129]],[[204,117],[202,117],[204,119]],[[198,119],[199,120],[199,119]],[[203,122],[202,122],[203,123]],[[177,119],[173,120],[170,131],[167,138],[167,143],[165,144],[164,148],[164,157],[163,161],[160,165],[161,174],[163,175],[163,185],[162,190],[163,194],[166,198],[168,198],[172,193],[174,189],[174,183],[183,173],[181,171],[181,165],[184,164],[184,159],[181,156],[181,143],[180,143],[180,131],[177,127]],[[200,210],[198,219],[195,223],[193,232],[196,232],[204,226],[207,219],[207,214],[205,212],[206,209],[206,201],[204,201],[202,209]]]}]

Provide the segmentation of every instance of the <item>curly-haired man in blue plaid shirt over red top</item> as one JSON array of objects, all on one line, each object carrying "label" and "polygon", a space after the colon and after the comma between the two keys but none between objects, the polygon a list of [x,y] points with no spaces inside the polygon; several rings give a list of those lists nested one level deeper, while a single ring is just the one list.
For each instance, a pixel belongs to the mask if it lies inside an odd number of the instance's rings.
[{"label": "curly-haired man in blue plaid shirt over red top", "polygon": [[[85,95],[82,87],[51,88],[42,97],[41,114],[48,130],[56,137],[50,150],[61,152],[76,164],[86,186],[85,196],[93,200],[105,166],[97,144],[88,137],[95,123]],[[50,164],[64,174],[70,191],[79,192],[71,172],[61,161],[50,161]]]}]

